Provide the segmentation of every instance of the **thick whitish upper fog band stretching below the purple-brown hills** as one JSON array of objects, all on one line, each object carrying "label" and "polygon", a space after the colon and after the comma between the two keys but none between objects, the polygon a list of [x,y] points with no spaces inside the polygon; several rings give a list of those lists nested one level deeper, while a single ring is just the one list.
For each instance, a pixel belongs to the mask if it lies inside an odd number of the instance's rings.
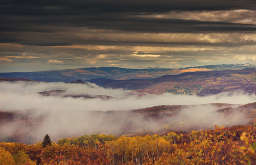
[{"label": "thick whitish upper fog band stretching below the purple-brown hills", "polygon": [[[64,93],[42,96],[38,92],[64,90]],[[95,84],[70,84],[64,82],[1,82],[0,104],[3,110],[134,110],[157,105],[192,105],[209,103],[248,104],[256,100],[255,95],[221,93],[207,97],[195,95],[138,96],[134,91],[102,88]],[[63,97],[64,95],[107,95],[111,99],[84,99]],[[13,104],[15,103],[15,104]]]}]

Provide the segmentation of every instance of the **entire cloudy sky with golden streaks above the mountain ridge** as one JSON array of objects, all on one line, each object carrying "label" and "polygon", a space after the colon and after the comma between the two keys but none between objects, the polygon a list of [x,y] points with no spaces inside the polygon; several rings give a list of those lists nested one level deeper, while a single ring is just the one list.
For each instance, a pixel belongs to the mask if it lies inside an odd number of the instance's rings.
[{"label": "entire cloudy sky with golden streaks above the mountain ridge", "polygon": [[1,0],[0,72],[256,64],[255,0]]}]

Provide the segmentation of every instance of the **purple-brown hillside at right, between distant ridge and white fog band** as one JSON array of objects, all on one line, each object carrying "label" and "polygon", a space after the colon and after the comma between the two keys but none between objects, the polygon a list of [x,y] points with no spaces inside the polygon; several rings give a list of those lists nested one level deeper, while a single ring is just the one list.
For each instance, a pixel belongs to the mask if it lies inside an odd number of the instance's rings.
[{"label": "purple-brown hillside at right, between distant ridge and white fog band", "polygon": [[153,79],[111,80],[92,79],[105,88],[124,88],[148,93],[208,95],[242,90],[256,93],[256,69],[227,71],[196,71],[179,75],[164,75]]}]

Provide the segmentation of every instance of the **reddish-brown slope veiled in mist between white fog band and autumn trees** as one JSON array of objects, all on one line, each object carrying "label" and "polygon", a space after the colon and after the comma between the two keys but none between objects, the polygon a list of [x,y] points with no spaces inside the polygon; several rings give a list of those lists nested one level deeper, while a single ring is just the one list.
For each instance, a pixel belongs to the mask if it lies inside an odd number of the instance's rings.
[{"label": "reddish-brown slope veiled in mist between white fog band and autumn trees", "polygon": [[[65,111],[58,111],[56,114]],[[193,115],[197,114],[197,115]],[[200,114],[200,115],[198,115]],[[55,132],[53,140],[62,137],[81,136],[82,134],[102,133],[120,136],[145,135],[170,131],[191,132],[213,129],[215,125],[233,126],[250,124],[256,117],[256,103],[245,105],[202,104],[202,105],[161,105],[127,111],[73,111],[70,117],[76,117],[72,127],[80,127],[79,132]],[[37,143],[33,132],[49,122],[49,113],[37,110],[0,111],[0,127],[13,127],[9,134],[1,134],[0,141]],[[82,120],[81,120],[82,119]],[[54,121],[58,122],[58,116]],[[70,122],[69,117],[65,119]],[[86,125],[90,127],[86,128]],[[48,126],[48,125],[47,125]],[[86,128],[86,129],[85,129]]]}]

